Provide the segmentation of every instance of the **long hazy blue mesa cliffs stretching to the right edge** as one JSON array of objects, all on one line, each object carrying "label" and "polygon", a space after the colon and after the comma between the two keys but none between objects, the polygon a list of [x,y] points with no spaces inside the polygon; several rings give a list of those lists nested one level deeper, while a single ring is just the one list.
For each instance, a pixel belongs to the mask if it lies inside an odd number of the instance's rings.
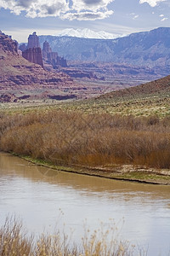
[{"label": "long hazy blue mesa cliffs stretching to the right edge", "polygon": [[108,61],[170,69],[170,27],[137,32],[116,39],[40,36],[53,51],[71,61]]}]

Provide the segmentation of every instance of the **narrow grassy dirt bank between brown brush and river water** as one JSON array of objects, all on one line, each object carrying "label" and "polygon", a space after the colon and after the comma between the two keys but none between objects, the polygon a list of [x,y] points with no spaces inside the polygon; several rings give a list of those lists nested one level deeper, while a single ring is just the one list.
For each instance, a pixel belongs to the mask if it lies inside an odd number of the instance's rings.
[{"label": "narrow grassy dirt bank between brown brush and river water", "polygon": [[170,170],[166,169],[151,169],[143,166],[114,166],[110,168],[94,167],[89,168],[85,166],[55,166],[54,164],[45,161],[32,159],[30,156],[17,155],[15,156],[24,159],[31,164],[43,166],[54,171],[70,172],[81,175],[88,175],[94,177],[110,178],[114,180],[121,180],[135,183],[148,183],[155,185],[170,185]]}]

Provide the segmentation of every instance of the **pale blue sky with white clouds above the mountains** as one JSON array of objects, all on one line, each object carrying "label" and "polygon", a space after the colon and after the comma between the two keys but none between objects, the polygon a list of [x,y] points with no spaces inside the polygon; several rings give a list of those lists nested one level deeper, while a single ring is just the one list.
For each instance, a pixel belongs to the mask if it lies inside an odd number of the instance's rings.
[{"label": "pale blue sky with white clouds above the mountains", "polygon": [[170,0],[0,0],[0,30],[19,43],[65,28],[127,35],[160,26],[170,26]]}]

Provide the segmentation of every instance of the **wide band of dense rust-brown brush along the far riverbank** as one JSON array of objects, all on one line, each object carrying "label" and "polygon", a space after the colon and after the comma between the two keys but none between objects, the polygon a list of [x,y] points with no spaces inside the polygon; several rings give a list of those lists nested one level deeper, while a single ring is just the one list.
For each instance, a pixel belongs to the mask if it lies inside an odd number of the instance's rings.
[{"label": "wide band of dense rust-brown brush along the far riverbank", "polygon": [[132,164],[170,168],[170,117],[61,110],[0,113],[0,150],[58,166]]}]

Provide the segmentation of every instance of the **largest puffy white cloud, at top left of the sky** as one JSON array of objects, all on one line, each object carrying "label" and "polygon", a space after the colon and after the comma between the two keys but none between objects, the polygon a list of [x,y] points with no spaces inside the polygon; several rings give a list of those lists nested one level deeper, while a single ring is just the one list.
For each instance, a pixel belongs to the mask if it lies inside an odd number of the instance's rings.
[{"label": "largest puffy white cloud, at top left of the sky", "polygon": [[114,0],[0,0],[0,9],[10,9],[15,15],[27,17],[55,16],[69,20],[105,19],[113,14],[107,8]]}]

